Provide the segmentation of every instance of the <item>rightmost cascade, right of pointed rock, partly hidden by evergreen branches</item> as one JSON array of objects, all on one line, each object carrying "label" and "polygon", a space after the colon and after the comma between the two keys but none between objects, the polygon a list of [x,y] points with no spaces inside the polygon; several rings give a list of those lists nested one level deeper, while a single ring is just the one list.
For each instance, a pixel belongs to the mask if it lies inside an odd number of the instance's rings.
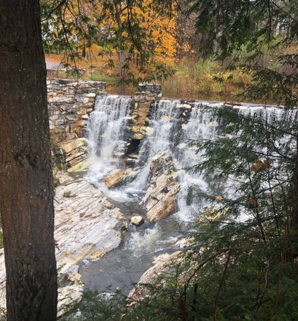
[{"label": "rightmost cascade, right of pointed rock, partly hidden by evergreen branches", "polygon": [[[179,211],[176,213],[176,216],[180,221],[192,220],[195,211],[194,208],[199,208],[201,205],[200,199],[194,199],[192,204],[189,204],[187,196],[191,192],[191,186],[199,186],[200,189],[205,191],[208,189],[208,182],[203,179],[203,175],[192,172],[188,173],[183,169],[190,168],[204,160],[204,152],[201,151],[197,153],[196,147],[189,147],[187,140],[215,139],[218,120],[217,116],[214,115],[212,110],[210,110],[210,107],[223,108],[222,105],[219,104],[194,104],[188,123],[182,125],[180,140],[175,148],[175,167],[177,169],[181,169],[179,171],[181,188],[177,197]],[[296,121],[298,115],[297,110],[286,111],[277,107],[265,108],[264,106],[236,106],[234,109],[244,117],[253,117],[264,122],[267,119],[268,124],[272,124],[274,121],[279,120],[285,120],[288,122]],[[285,136],[284,140],[286,139],[287,137]]]}]

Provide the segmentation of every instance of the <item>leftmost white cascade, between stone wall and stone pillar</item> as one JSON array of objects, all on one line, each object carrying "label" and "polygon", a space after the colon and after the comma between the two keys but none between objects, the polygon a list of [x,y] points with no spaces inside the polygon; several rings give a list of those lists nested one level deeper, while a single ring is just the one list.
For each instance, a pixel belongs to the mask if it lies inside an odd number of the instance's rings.
[{"label": "leftmost white cascade, between stone wall and stone pillar", "polygon": [[89,177],[102,178],[119,166],[119,157],[126,147],[125,128],[130,116],[131,98],[108,95],[97,96],[94,111],[90,113],[87,138],[93,163]]}]

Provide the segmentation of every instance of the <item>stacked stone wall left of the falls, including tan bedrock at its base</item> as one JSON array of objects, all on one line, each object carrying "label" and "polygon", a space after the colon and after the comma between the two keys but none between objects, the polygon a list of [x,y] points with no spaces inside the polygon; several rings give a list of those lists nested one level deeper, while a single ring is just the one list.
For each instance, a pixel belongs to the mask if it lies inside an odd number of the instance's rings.
[{"label": "stacked stone wall left of the falls, including tan bedrock at its base", "polygon": [[58,167],[70,168],[86,158],[83,139],[96,95],[106,93],[105,82],[48,78],[48,110],[52,154]]}]

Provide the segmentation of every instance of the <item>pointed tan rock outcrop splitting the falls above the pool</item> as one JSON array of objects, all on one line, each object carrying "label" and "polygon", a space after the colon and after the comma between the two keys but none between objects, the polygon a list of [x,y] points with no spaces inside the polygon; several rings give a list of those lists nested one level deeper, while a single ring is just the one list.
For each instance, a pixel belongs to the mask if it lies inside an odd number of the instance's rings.
[{"label": "pointed tan rock outcrop splitting the falls above the pool", "polygon": [[174,172],[171,154],[165,152],[154,156],[150,165],[150,185],[141,202],[148,218],[156,221],[174,213],[179,190],[178,174]]}]

